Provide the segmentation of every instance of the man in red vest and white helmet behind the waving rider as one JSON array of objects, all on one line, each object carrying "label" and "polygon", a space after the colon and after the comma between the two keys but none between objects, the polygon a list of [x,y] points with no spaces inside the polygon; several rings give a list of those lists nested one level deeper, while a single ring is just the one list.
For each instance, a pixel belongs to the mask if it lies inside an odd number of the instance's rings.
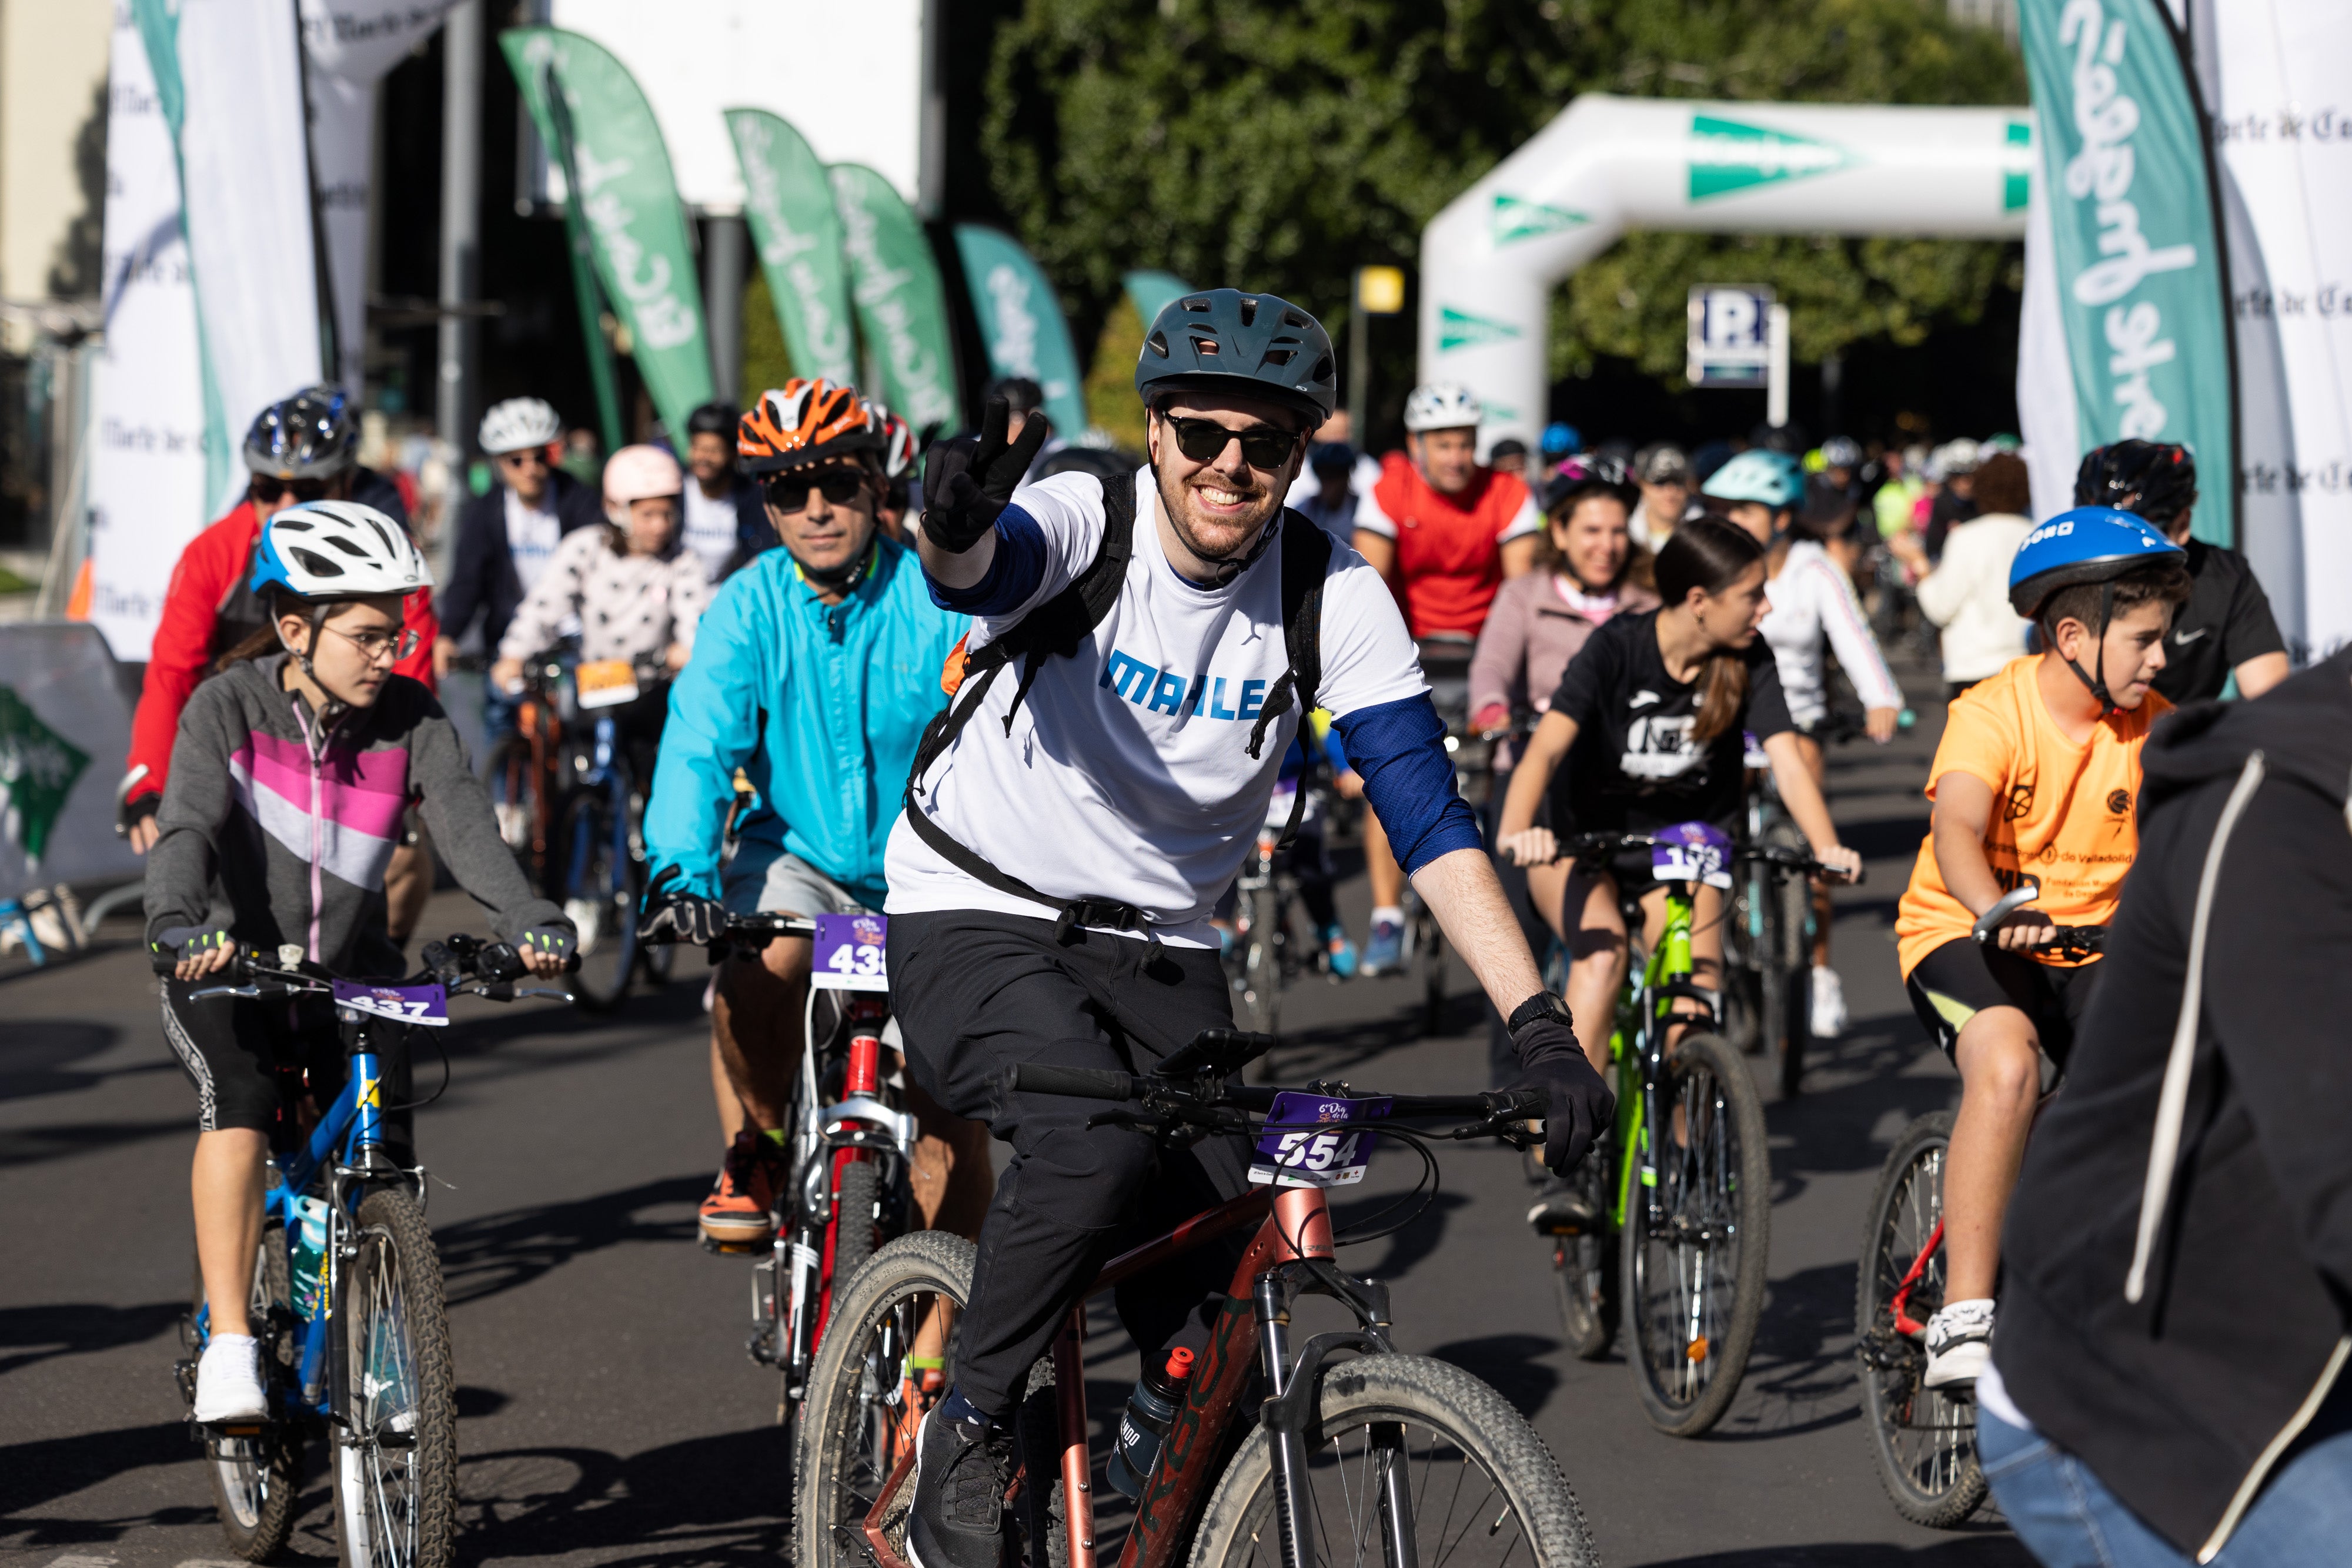
[{"label": "man in red vest and white helmet behind the waving rider", "polygon": [[[1404,447],[1381,461],[1381,482],[1355,508],[1355,548],[1388,578],[1421,644],[1439,710],[1468,701],[1470,651],[1503,578],[1536,564],[1543,512],[1517,475],[1477,461],[1484,407],[1465,386],[1418,386],[1404,400]],[[1449,693],[1446,686],[1456,689]],[[1345,785],[1345,780],[1343,780]],[[1388,832],[1364,811],[1371,938],[1362,973],[1404,961],[1404,870]]]}]

